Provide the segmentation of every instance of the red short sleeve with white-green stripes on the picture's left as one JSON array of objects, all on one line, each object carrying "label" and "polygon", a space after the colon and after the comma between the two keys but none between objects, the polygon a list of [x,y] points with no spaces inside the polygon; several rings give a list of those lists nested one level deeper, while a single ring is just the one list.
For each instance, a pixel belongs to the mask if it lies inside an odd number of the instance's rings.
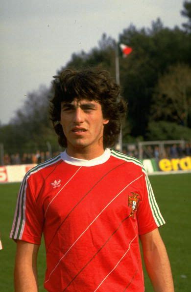
[{"label": "red short sleeve with white-green stripes on the picture's left", "polygon": [[25,176],[17,198],[10,238],[41,243],[44,213],[37,204],[37,198],[30,185],[30,177]]}]

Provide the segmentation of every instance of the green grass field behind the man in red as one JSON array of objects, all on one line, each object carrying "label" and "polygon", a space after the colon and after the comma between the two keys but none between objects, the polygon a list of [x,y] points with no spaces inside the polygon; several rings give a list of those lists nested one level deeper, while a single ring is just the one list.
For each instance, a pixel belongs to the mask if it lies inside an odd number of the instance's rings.
[{"label": "green grass field behind the man in red", "polygon": [[[167,224],[160,229],[166,243],[176,292],[191,291],[191,174],[150,176],[157,202]],[[0,184],[0,292],[12,292],[16,244],[9,239],[19,184]],[[39,251],[39,292],[43,288],[45,250]],[[145,292],[152,292],[145,275]]]}]

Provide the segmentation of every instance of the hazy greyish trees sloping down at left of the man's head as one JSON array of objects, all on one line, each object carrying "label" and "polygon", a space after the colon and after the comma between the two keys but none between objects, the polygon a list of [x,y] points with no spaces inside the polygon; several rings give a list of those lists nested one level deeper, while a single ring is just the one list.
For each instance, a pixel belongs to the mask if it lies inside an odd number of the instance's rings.
[{"label": "hazy greyish trees sloping down at left of the man's head", "polygon": [[3,142],[6,153],[46,151],[47,141],[51,141],[53,151],[58,149],[48,115],[51,95],[51,90],[45,87],[29,93],[11,122],[0,126],[0,142]]}]

